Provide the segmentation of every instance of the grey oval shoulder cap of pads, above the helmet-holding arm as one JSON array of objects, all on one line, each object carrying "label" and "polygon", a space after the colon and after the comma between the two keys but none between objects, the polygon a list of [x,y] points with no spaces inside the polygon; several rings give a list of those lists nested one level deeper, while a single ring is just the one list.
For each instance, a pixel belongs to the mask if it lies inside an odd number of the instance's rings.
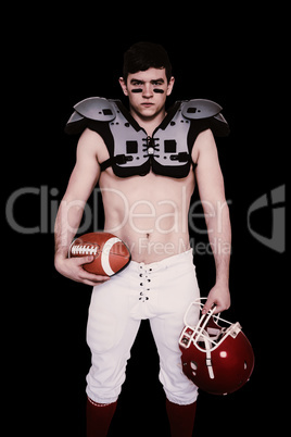
[{"label": "grey oval shoulder cap of pads, above the helmet-holding arm", "polygon": [[217,115],[222,109],[212,100],[194,99],[182,103],[181,113],[186,118],[200,120]]}]

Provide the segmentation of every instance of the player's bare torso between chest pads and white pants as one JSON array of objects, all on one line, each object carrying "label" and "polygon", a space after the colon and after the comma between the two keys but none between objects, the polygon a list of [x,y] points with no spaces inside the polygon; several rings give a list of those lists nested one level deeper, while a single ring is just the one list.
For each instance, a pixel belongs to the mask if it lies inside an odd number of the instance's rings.
[{"label": "player's bare torso between chest pads and white pants", "polygon": [[[107,157],[99,148],[101,162]],[[105,212],[105,228],[127,244],[131,259],[151,263],[190,248],[188,210],[194,189],[191,170],[177,179],[149,173],[116,177],[112,168],[101,173],[99,185]]]}]

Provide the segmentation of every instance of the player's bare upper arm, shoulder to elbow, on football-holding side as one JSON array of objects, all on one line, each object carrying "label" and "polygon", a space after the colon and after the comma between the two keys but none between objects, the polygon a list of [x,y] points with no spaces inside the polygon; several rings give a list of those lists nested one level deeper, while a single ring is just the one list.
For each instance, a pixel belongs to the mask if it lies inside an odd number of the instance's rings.
[{"label": "player's bare upper arm, shoulder to elbow, on football-holding side", "polygon": [[65,198],[86,202],[100,176],[100,165],[97,159],[100,137],[86,129],[77,146],[76,164],[68,180]]}]

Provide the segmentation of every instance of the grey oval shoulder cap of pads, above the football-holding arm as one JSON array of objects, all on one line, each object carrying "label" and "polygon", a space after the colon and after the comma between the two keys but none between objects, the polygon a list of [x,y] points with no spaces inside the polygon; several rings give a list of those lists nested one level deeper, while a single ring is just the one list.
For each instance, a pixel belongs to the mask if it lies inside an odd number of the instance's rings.
[{"label": "grey oval shoulder cap of pads, above the football-holding arm", "polygon": [[75,104],[74,110],[85,118],[111,122],[116,113],[113,103],[103,97],[90,97]]}]

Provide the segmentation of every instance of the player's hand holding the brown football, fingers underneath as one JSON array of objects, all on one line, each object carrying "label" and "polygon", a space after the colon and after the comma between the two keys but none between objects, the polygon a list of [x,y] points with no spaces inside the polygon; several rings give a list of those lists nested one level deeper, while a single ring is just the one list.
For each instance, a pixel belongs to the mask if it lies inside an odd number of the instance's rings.
[{"label": "player's hand holding the brown football, fingers underneath", "polygon": [[68,277],[77,283],[83,283],[94,287],[110,279],[109,276],[94,275],[93,273],[86,272],[83,269],[84,264],[88,264],[93,261],[93,255],[80,257],[80,258],[63,258],[62,255],[55,255],[54,266],[61,275]]}]

